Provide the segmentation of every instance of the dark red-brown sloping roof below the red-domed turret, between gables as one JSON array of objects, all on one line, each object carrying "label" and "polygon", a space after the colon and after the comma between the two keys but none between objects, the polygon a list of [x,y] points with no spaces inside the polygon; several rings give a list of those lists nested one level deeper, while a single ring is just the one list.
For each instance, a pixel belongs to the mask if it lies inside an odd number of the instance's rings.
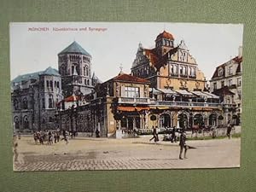
[{"label": "dark red-brown sloping roof below the red-domed turret, between gables", "polygon": [[163,67],[167,64],[168,55],[177,52],[177,48],[170,49],[166,52],[165,55],[158,55],[156,49],[144,49],[144,55],[148,57],[149,62],[156,67],[157,70],[160,70],[160,67]]}]

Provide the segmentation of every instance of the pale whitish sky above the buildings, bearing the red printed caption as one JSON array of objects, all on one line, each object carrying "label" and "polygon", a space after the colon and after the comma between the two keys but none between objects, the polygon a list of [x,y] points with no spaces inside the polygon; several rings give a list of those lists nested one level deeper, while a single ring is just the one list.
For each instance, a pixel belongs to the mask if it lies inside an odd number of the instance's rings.
[{"label": "pale whitish sky above the buildings, bearing the red printed caption", "polygon": [[92,72],[102,81],[131,73],[138,44],[153,49],[163,31],[172,33],[177,45],[189,48],[207,80],[218,65],[238,55],[242,46],[241,24],[160,22],[23,22],[10,23],[11,79],[25,73],[58,69],[58,53],[75,40],[92,56]]}]

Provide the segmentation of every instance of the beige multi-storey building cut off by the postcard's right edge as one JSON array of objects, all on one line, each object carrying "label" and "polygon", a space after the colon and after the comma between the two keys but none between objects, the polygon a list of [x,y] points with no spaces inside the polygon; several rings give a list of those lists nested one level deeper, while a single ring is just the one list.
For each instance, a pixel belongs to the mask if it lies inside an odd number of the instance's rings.
[{"label": "beige multi-storey building cut off by the postcard's right edge", "polygon": [[239,125],[241,122],[241,82],[242,82],[242,48],[239,54],[216,67],[210,80],[210,90],[220,96],[224,104],[225,122],[231,120]]}]

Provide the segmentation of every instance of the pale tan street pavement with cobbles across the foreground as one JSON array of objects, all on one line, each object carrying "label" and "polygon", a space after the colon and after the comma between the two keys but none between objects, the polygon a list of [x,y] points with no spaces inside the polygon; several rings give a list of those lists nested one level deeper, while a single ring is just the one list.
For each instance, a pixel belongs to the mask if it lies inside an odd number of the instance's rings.
[{"label": "pale tan street pavement with cobbles across the foreground", "polygon": [[224,168],[240,166],[240,138],[187,141],[188,159],[179,160],[178,143],[149,142],[148,137],[113,139],[76,137],[52,145],[18,141],[14,171]]}]

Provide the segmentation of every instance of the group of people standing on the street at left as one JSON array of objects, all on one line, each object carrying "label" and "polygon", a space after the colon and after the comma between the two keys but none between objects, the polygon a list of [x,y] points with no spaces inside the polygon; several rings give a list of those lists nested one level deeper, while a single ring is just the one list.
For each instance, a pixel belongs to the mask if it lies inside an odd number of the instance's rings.
[{"label": "group of people standing on the street at left", "polygon": [[[75,134],[73,134],[75,135]],[[63,130],[63,138],[61,138],[61,131],[36,131],[33,134],[34,141],[36,144],[40,143],[44,145],[46,142],[47,144],[51,145],[53,143],[59,143],[60,139],[61,141],[64,140],[66,143],[68,143],[68,138],[69,138],[69,132]]]}]

